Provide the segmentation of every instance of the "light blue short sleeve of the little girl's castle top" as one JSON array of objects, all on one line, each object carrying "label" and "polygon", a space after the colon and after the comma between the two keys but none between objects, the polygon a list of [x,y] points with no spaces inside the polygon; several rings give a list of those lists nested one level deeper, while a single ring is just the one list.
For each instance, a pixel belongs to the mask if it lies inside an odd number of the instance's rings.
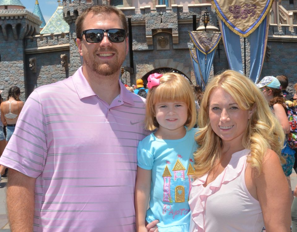
[{"label": "light blue short sleeve of the little girl's castle top", "polygon": [[137,166],[140,168],[151,170],[154,165],[154,156],[143,145],[143,141],[138,143],[137,147]]}]

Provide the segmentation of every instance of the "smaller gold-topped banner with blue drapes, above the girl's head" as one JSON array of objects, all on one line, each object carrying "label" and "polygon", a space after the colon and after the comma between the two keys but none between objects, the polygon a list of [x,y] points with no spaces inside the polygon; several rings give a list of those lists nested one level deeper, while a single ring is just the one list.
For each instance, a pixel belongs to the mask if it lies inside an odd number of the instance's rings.
[{"label": "smaller gold-topped banner with blue drapes, above the girl's head", "polygon": [[204,91],[221,32],[189,32],[195,48],[190,49],[196,83]]}]

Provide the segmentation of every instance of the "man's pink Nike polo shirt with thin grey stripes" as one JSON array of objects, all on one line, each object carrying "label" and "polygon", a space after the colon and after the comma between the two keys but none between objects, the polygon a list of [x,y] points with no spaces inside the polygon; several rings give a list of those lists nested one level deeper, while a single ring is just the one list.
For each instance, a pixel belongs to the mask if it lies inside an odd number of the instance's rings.
[{"label": "man's pink Nike polo shirt with thin grey stripes", "polygon": [[108,105],[80,67],[27,99],[0,163],[37,178],[34,231],[135,231],[136,149],[149,132],[144,99],[119,83]]}]

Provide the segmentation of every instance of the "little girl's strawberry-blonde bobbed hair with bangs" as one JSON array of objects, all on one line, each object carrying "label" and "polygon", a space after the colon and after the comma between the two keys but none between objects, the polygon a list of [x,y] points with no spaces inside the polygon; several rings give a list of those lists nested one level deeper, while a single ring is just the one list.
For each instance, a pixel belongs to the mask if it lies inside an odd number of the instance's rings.
[{"label": "little girl's strawberry-blonde bobbed hair with bangs", "polygon": [[146,97],[145,128],[153,131],[159,127],[156,119],[155,105],[158,102],[182,101],[188,108],[188,118],[185,125],[191,129],[197,120],[193,88],[189,81],[178,73],[165,73],[160,78],[160,84],[149,89]]}]

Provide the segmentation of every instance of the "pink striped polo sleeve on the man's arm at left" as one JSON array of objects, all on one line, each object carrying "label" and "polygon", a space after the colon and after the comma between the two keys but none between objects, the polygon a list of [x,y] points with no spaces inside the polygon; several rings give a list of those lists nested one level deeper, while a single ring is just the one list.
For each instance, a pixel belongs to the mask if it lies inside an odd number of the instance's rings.
[{"label": "pink striped polo sleeve on the man's arm at left", "polygon": [[47,127],[36,91],[28,97],[1,158],[0,164],[37,178],[47,157]]}]

